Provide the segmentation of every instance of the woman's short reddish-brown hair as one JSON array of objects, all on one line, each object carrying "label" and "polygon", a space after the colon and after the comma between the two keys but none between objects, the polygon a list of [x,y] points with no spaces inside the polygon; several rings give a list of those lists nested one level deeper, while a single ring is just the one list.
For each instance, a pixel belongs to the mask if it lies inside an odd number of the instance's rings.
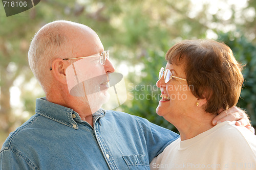
[{"label": "woman's short reddish-brown hair", "polygon": [[217,113],[237,104],[244,81],[243,66],[226,44],[215,40],[183,40],[168,50],[165,59],[170,64],[184,64],[193,95],[207,100],[206,112]]}]

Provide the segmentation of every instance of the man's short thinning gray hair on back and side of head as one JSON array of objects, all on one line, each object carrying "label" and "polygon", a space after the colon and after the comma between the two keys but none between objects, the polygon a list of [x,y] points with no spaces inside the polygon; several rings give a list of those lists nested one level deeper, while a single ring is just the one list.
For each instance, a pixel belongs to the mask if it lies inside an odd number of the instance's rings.
[{"label": "man's short thinning gray hair on back and side of head", "polygon": [[[65,34],[65,26],[69,21],[54,21],[42,27],[33,37],[28,59],[30,68],[46,91],[51,75],[49,74],[55,58],[72,57],[72,47],[68,44],[69,38]],[[71,22],[72,23],[72,22]]]}]

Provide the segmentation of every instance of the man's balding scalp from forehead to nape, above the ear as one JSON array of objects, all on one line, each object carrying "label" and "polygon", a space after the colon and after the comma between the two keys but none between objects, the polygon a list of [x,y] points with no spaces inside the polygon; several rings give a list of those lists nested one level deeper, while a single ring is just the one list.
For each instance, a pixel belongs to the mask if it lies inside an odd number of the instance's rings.
[{"label": "man's balding scalp from forehead to nape, above the ear", "polygon": [[[73,58],[87,48],[88,54],[94,46],[102,45],[98,35],[89,27],[79,23],[59,20],[42,27],[33,37],[28,58],[30,68],[47,92],[51,81],[51,64],[56,58]],[[103,47],[103,46],[102,46]],[[50,84],[49,84],[50,83]]]}]

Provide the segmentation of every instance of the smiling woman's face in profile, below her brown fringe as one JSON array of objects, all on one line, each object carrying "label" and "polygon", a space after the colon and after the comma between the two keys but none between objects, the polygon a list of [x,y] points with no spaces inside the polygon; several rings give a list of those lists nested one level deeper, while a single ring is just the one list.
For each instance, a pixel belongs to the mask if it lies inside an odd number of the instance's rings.
[{"label": "smiling woman's face in profile, below her brown fringe", "polygon": [[[184,65],[167,63],[165,70],[169,69],[172,75],[186,79]],[[170,79],[167,83],[164,76],[157,81],[157,87],[161,90],[162,99],[159,101],[156,112],[169,121],[168,117],[174,118],[187,115],[196,106],[197,98],[192,94],[193,87],[188,86],[187,81],[181,79]],[[172,122],[172,121],[169,121]]]}]

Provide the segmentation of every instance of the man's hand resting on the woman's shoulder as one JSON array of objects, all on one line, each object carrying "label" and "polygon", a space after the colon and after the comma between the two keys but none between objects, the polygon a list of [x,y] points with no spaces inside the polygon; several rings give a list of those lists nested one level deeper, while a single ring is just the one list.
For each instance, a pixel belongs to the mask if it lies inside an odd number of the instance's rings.
[{"label": "man's hand resting on the woman's shoulder", "polygon": [[234,106],[228,110],[220,112],[214,119],[212,119],[212,125],[217,125],[224,121],[237,121],[237,126],[244,126],[249,129],[253,134],[255,133],[254,128],[250,124],[250,120],[244,110]]}]

